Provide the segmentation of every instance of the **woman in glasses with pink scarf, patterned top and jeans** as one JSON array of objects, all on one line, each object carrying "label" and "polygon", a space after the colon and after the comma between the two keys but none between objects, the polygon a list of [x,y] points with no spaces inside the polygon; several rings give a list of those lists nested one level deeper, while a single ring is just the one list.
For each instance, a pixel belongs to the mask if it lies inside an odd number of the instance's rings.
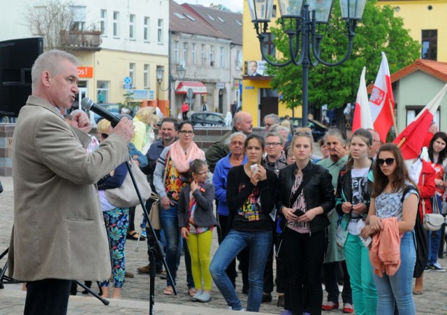
[{"label": "woman in glasses with pink scarf, patterned top and jeans", "polygon": [[[178,126],[179,140],[165,147],[161,152],[154,171],[154,186],[160,198],[160,221],[166,237],[166,264],[173,277],[177,273],[179,228],[177,219],[180,191],[189,184],[189,162],[200,159],[205,161],[205,153],[193,142],[194,127],[191,122],[181,122]],[[166,174],[166,175],[165,175]],[[163,182],[163,179],[165,182]],[[186,244],[186,242],[184,242]],[[191,273],[191,258],[188,247],[184,246],[186,282],[188,293],[196,294]],[[173,284],[166,279],[167,286],[163,294],[173,295]]]}]

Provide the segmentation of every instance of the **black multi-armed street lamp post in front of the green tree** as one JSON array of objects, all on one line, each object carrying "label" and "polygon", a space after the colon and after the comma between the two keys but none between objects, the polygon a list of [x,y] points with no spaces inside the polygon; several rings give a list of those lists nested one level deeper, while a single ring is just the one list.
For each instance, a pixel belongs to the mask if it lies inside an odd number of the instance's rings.
[{"label": "black multi-armed street lamp post in front of the green tree", "polygon": [[[339,0],[342,20],[346,21],[346,36],[349,44],[346,55],[339,61],[328,62],[320,57],[320,44],[329,27],[330,11],[333,0],[278,0],[279,23],[288,35],[288,61],[271,61],[264,52],[263,43],[268,37],[268,23],[272,18],[273,0],[249,0],[251,22],[254,24],[261,45],[263,59],[272,66],[283,67],[288,64],[302,66],[302,126],[307,126],[307,108],[309,98],[309,68],[323,64],[338,66],[349,58],[357,22],[361,20],[366,0]],[[324,29],[323,34],[320,30]],[[312,60],[314,59],[314,60]]]}]

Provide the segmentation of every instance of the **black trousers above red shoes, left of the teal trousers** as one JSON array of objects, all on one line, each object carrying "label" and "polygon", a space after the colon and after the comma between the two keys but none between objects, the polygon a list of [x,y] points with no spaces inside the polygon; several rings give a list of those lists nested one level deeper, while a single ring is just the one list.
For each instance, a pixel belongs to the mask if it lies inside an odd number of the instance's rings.
[{"label": "black trousers above red shoes, left of the teal trousers", "polygon": [[[342,269],[342,270],[340,270]],[[342,271],[342,272],[341,272]],[[337,279],[343,279],[342,300],[352,304],[351,279],[346,268],[346,261],[323,263],[324,286],[328,292],[328,302],[338,304],[339,289]]]}]

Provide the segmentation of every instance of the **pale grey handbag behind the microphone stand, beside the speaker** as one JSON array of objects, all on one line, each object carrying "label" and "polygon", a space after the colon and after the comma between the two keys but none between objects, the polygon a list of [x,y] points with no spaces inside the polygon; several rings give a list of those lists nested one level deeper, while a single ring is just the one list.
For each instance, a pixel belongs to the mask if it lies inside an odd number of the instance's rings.
[{"label": "pale grey handbag behind the microphone stand, beside the speaker", "polygon": [[[131,159],[131,169],[138,189],[140,190],[141,198],[143,202],[151,196],[151,186],[147,182],[147,177],[140,168],[135,164],[135,161]],[[135,187],[133,186],[131,173],[128,172],[124,182],[121,186],[114,189],[106,189],[105,197],[111,205],[120,208],[135,207],[140,204]]]}]

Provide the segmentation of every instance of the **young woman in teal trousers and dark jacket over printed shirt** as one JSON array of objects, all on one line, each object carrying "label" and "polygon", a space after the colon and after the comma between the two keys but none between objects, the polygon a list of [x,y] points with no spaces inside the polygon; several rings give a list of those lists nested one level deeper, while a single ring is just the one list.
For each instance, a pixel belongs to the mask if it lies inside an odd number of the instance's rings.
[{"label": "young woman in teal trousers and dark jacket over printed shirt", "polygon": [[[349,159],[340,170],[337,182],[337,213],[342,216],[339,246],[343,249],[352,288],[354,310],[357,315],[376,314],[377,291],[372,279],[369,252],[360,230],[365,226],[374,177],[373,162],[369,158],[373,145],[372,134],[357,129],[351,136]],[[343,244],[344,242],[344,244]],[[346,285],[346,284],[345,284]]]}]

